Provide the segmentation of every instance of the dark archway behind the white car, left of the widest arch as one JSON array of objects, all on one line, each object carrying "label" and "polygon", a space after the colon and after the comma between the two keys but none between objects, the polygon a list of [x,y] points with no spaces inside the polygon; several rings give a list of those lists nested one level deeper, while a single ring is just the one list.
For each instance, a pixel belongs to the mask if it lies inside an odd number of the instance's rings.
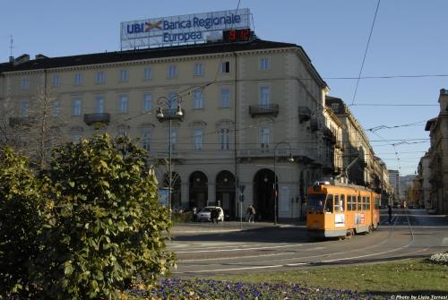
[{"label": "dark archway behind the white car, left of the widest arch", "polygon": [[235,215],[235,176],[229,171],[221,171],[216,176],[216,205],[222,207],[224,216]]}]

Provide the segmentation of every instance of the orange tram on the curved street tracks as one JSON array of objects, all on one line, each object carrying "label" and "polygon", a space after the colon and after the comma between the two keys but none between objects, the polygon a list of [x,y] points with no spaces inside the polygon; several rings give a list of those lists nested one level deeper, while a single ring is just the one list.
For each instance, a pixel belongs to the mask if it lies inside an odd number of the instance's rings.
[{"label": "orange tram on the curved street tracks", "polygon": [[371,233],[380,224],[380,195],[364,186],[317,182],[308,187],[306,228],[310,238]]}]

